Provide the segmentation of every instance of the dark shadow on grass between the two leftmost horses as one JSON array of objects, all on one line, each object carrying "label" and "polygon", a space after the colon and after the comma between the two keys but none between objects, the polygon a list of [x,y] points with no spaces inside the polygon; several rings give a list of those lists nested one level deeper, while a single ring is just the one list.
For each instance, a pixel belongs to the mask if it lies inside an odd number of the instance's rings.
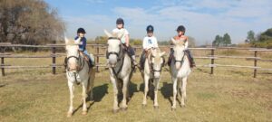
[{"label": "dark shadow on grass between the two leftmost horses", "polygon": [[[108,87],[108,84],[105,83],[105,84],[103,84],[103,85],[101,85],[101,86],[97,86],[97,87],[94,87],[94,88],[92,89],[92,92],[93,92],[93,99],[92,99],[92,103],[90,104],[90,106],[87,107],[87,110],[88,110],[88,111],[89,111],[89,109],[92,107],[92,105],[93,105],[95,102],[101,101],[101,100],[103,99],[103,97],[104,97],[106,94],[108,94],[108,88],[109,88],[109,87]],[[88,94],[90,94],[90,93],[88,93]],[[86,102],[88,102],[88,101],[91,101],[90,98],[87,98]],[[75,109],[73,110],[73,114],[74,114],[76,111],[78,111],[79,108],[83,108],[83,103],[82,103],[79,107],[77,107],[77,108],[75,108]]]}]

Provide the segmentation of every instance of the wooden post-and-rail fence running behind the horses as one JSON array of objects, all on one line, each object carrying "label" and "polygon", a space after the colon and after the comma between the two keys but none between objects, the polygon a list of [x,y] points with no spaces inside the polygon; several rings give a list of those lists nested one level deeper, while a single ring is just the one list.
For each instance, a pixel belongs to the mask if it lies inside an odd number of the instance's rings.
[{"label": "wooden post-and-rail fence running behind the horses", "polygon": [[[65,56],[65,53],[56,53],[56,48],[63,48],[64,44],[48,44],[48,45],[23,45],[23,44],[11,44],[11,43],[0,43],[0,58],[1,64],[0,68],[2,71],[2,76],[5,76],[5,69],[35,69],[35,68],[52,68],[52,73],[56,73],[56,68],[63,67],[63,64],[56,64],[56,58]],[[101,58],[105,58],[104,51],[107,46],[105,44],[87,44],[87,46],[92,46],[94,49],[93,55],[95,56],[96,61],[96,70],[99,71],[100,68],[106,67],[105,64],[100,62]],[[50,55],[43,55],[43,56],[29,56],[29,55],[13,55],[12,53],[5,53],[6,48],[15,48],[15,47],[27,47],[27,48],[49,48],[51,49],[52,53]],[[170,46],[160,46],[162,50],[170,50]],[[249,52],[254,52],[252,57],[242,57],[242,56],[219,56],[215,55],[215,52],[218,49],[227,49],[227,50],[246,50]],[[135,51],[141,51],[140,46],[134,47]],[[189,50],[204,50],[209,51],[210,55],[208,56],[195,56],[195,59],[208,59],[210,60],[209,64],[202,64],[197,65],[197,68],[200,67],[208,67],[210,68],[210,74],[214,73],[214,69],[216,67],[236,67],[236,68],[249,68],[253,69],[253,77],[257,77],[257,70],[272,70],[272,69],[264,69],[257,66],[257,61],[272,61],[272,60],[262,60],[260,57],[257,57],[257,52],[272,52],[272,50],[267,49],[256,49],[256,48],[236,48],[236,47],[226,47],[226,48],[189,48]],[[136,55],[139,57],[139,55]],[[5,58],[52,58],[51,65],[43,65],[43,66],[11,66],[5,64]],[[248,61],[254,61],[253,66],[240,66],[240,65],[225,65],[225,64],[216,64],[215,60],[223,59],[223,58],[230,58],[230,59],[246,59]]]}]

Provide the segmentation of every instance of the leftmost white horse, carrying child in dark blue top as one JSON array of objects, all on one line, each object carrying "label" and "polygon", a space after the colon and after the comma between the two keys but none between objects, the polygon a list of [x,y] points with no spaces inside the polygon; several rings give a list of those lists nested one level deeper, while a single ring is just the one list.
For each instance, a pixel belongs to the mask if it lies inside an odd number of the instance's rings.
[{"label": "leftmost white horse, carrying child in dark blue top", "polygon": [[89,68],[88,61],[84,60],[83,52],[79,51],[79,43],[79,40],[70,42],[67,38],[65,38],[67,53],[66,77],[70,90],[70,107],[67,112],[67,117],[71,117],[73,115],[74,83],[83,84],[83,115],[87,114],[86,99],[89,91],[89,97],[92,99],[92,87],[95,70]]}]

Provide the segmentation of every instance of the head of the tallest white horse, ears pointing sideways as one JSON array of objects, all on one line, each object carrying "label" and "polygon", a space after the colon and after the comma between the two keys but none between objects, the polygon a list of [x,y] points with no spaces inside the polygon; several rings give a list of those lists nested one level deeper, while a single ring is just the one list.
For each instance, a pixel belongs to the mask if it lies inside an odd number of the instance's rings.
[{"label": "head of the tallest white horse, ears pointing sideways", "polygon": [[121,41],[120,36],[117,33],[108,33],[104,30],[104,33],[108,36],[108,53],[109,64],[111,67],[115,67],[118,57],[121,53]]}]

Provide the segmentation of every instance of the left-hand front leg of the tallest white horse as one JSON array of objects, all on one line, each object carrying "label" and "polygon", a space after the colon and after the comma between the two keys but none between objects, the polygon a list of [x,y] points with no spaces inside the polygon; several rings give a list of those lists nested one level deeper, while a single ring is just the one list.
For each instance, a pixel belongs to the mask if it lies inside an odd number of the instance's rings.
[{"label": "left-hand front leg of the tallest white horse", "polygon": [[113,113],[118,112],[118,88],[117,80],[111,76],[112,88],[113,88]]}]

